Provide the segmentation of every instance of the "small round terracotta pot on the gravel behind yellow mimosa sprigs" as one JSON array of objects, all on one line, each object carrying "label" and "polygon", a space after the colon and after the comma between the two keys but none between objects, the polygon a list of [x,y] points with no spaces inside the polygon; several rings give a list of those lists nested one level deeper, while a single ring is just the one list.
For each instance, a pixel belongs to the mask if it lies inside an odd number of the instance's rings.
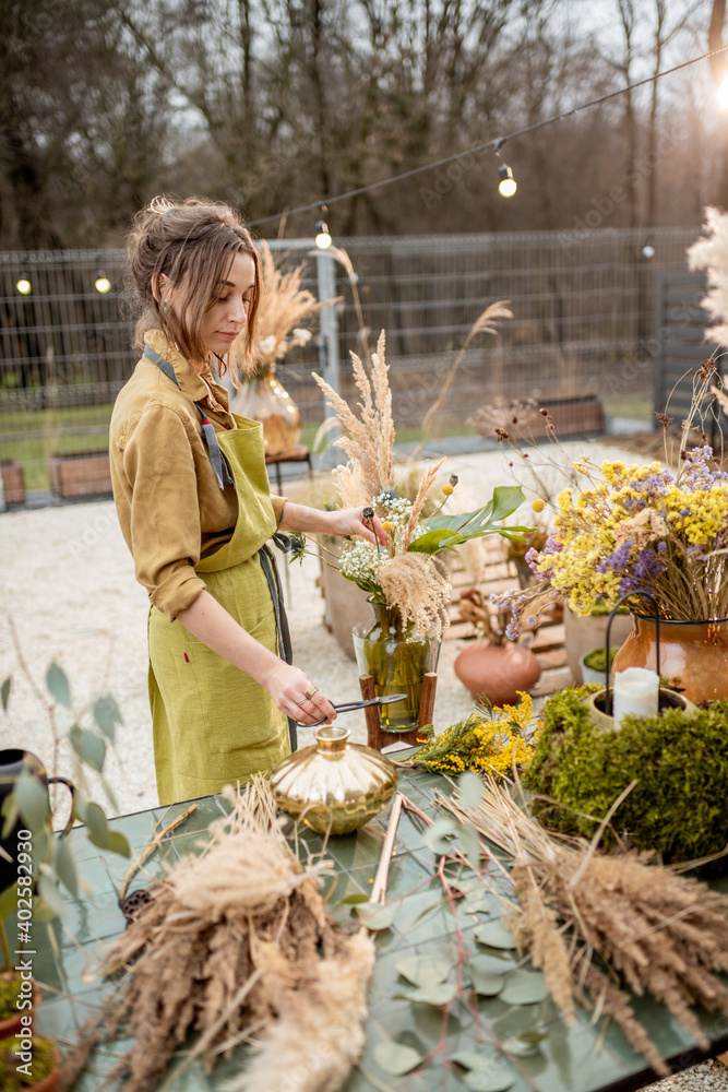
[{"label": "small round terracotta pot on the gravel behind yellow mimosa sprigs", "polygon": [[518,690],[530,690],[540,678],[541,665],[523,644],[488,644],[477,641],[463,649],[454,664],[455,675],[474,698],[485,695],[493,705],[512,705]]}]

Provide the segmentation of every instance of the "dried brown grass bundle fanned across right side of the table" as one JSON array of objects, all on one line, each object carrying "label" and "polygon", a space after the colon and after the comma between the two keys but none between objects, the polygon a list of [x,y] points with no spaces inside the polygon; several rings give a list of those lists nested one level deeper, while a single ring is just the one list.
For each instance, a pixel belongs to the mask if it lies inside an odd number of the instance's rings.
[{"label": "dried brown grass bundle fanned across right side of the table", "polygon": [[[648,854],[599,853],[588,843],[539,827],[508,788],[486,779],[477,808],[455,795],[440,798],[513,858],[517,904],[506,921],[521,949],[528,947],[569,1021],[574,999],[612,1017],[659,1072],[669,1072],[637,1021],[630,995],[651,993],[707,1048],[692,1011],[703,1005],[728,1016],[728,898],[704,883],[649,863]],[[609,973],[598,970],[598,956]],[[588,998],[587,998],[588,995]]]}]

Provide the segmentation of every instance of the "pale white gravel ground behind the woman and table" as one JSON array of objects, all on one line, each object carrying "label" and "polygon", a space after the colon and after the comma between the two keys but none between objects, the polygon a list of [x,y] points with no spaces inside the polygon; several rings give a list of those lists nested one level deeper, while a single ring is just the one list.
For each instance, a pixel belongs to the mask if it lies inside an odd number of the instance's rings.
[{"label": "pale white gravel ground behind the woman and table", "polygon": [[[580,458],[585,448],[597,462],[624,458],[623,451],[604,444],[566,447],[572,458]],[[482,503],[493,486],[506,480],[501,452],[453,456],[447,471],[460,476],[461,510]],[[289,495],[293,497],[293,489]],[[0,679],[7,675],[13,679],[8,714],[0,717],[0,745],[32,750],[49,768],[57,765],[59,773],[73,775],[70,749],[61,743],[57,760],[53,755],[41,689],[45,670],[56,660],[69,676],[73,701],[73,714],[57,712],[61,736],[74,717],[80,723],[88,717],[98,693],[110,690],[119,703],[123,724],[107,763],[106,776],[114,794],[107,814],[154,807],[157,798],[146,693],[147,600],[135,582],[114,503],[5,512],[0,515],[0,526],[7,558],[0,574]],[[315,583],[319,562],[307,558],[288,573],[294,662],[334,701],[356,699],[356,664],[323,626],[323,601]],[[443,642],[434,711],[438,732],[472,708],[469,695],[452,670],[461,646],[458,641]],[[21,668],[16,648],[35,686]],[[361,713],[344,714],[339,723],[351,728],[355,741],[366,741]],[[303,729],[301,745],[310,737],[311,732]],[[93,782],[89,787],[99,791]],[[728,1092],[728,1069],[717,1061],[705,1063],[651,1089]]]}]

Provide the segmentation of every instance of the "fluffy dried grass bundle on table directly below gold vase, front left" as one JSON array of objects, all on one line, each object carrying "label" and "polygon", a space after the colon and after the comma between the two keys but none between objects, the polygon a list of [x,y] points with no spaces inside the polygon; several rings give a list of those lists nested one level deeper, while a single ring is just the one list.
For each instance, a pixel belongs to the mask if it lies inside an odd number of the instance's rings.
[{"label": "fluffy dried grass bundle on table directly below gold vase, front left", "polygon": [[201,1055],[207,1069],[254,1043],[236,1092],[278,1092],[284,1071],[297,1075],[298,1092],[341,1088],[363,1042],[374,949],[331,918],[318,890],[324,867],[291,854],[267,783],[255,778],[202,854],[151,889],[100,963],[107,975],[126,971],[105,1013],[111,1033],[133,1037],[115,1073],[121,1092],[154,1089],[193,1031],[187,1064]]}]

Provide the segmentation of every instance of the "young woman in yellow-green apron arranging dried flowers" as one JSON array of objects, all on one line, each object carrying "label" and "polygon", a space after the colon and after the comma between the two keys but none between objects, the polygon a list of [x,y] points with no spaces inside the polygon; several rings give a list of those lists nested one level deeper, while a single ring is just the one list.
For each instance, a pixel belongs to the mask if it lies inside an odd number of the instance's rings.
[{"label": "young woman in yellow-green apron arranging dried flowers", "polygon": [[214,378],[243,330],[243,368],[255,359],[260,268],[235,212],[155,199],[128,252],[143,356],[114,408],[111,476],[151,600],[150,701],[166,805],[274,769],[295,746],[294,720],[336,715],[290,663],[267,541],[278,531],[374,536],[361,509],[319,512],[271,496],[261,425],[234,416]]}]

